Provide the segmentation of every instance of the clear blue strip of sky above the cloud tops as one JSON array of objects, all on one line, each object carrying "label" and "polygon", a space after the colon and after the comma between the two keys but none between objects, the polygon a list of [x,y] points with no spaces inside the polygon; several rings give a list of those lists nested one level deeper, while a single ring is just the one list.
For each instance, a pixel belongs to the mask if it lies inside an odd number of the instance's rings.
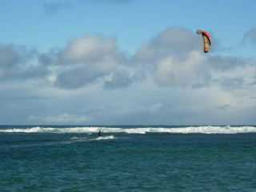
[{"label": "clear blue strip of sky above the cloud tops", "polygon": [[207,29],[223,43],[233,46],[252,27],[256,6],[251,1],[188,0],[6,1],[1,4],[4,43],[48,50],[83,34],[103,34],[118,38],[122,49],[131,53],[169,26]]}]

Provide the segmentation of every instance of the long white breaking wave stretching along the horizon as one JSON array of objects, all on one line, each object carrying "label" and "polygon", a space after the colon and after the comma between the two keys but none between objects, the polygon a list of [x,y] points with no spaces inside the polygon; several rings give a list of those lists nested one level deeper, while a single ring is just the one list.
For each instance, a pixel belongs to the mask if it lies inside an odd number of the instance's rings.
[{"label": "long white breaking wave stretching along the horizon", "polygon": [[2,129],[0,133],[56,133],[56,134],[95,134],[101,130],[106,134],[146,134],[146,133],[168,133],[168,134],[243,134],[256,133],[256,126],[186,126],[186,127],[41,127]]}]

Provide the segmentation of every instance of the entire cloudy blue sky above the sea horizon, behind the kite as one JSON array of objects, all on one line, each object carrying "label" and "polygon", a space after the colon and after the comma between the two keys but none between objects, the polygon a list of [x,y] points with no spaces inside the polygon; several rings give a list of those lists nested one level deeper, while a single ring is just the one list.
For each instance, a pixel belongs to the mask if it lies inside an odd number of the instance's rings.
[{"label": "entire cloudy blue sky above the sea horizon, behind the kite", "polygon": [[255,125],[255,6],[2,1],[0,124]]}]

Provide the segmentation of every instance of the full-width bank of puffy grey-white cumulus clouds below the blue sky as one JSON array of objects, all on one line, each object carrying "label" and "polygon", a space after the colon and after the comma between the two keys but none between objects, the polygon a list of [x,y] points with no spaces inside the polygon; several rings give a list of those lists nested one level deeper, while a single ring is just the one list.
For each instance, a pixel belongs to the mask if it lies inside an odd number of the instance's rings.
[{"label": "full-width bank of puffy grey-white cumulus clouds below the blue sky", "polygon": [[254,85],[255,60],[202,53],[202,39],[194,31],[168,28],[128,58],[115,38],[85,35],[60,50],[38,53],[22,46],[0,46],[0,79],[47,80],[63,90],[98,83],[120,89],[150,79],[158,86],[221,86],[245,89]]}]

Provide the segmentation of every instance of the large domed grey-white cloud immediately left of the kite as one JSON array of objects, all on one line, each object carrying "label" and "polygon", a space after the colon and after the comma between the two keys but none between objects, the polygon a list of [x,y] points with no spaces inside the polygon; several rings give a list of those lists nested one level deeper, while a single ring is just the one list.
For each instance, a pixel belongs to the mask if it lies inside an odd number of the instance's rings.
[{"label": "large domed grey-white cloud immediately left of the kite", "polygon": [[206,82],[201,38],[184,28],[169,28],[142,46],[134,62],[148,70],[158,86],[194,86]]}]

